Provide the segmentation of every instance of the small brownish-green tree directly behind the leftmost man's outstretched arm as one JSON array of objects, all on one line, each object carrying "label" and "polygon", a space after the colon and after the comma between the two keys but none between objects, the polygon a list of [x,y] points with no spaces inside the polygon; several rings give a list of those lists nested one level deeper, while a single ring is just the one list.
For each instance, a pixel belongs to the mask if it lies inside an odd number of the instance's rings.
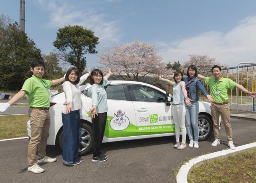
[{"label": "small brownish-green tree directly behind the leftmost man's outstretched arm", "polygon": [[44,79],[54,80],[63,76],[64,72],[59,66],[59,60],[56,53],[50,52],[49,55],[42,55],[46,72],[44,73]]}]

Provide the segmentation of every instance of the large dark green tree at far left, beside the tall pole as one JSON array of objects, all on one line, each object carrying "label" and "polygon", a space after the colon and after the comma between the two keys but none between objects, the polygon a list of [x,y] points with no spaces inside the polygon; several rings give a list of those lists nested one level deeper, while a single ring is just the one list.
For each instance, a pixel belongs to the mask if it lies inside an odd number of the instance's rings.
[{"label": "large dark green tree at far left, beside the tall pole", "polygon": [[0,88],[20,90],[24,81],[31,77],[31,62],[42,59],[41,51],[18,29],[17,22],[2,26],[0,35]]}]

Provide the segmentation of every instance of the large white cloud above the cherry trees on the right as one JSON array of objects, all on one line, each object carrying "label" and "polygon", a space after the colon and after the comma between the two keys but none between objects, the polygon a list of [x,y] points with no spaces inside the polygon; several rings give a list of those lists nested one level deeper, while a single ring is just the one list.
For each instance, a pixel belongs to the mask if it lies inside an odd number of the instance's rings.
[{"label": "large white cloud above the cherry trees on the right", "polygon": [[221,64],[256,63],[256,16],[247,17],[227,33],[205,32],[177,42],[156,43],[165,62],[189,59],[189,55],[209,55]]}]

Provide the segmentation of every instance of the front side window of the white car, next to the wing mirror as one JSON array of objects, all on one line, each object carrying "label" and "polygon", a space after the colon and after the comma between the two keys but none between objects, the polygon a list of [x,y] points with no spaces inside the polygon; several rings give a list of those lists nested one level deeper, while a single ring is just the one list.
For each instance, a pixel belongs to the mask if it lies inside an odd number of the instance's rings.
[{"label": "front side window of the white car, next to the wing mirror", "polygon": [[165,102],[165,95],[153,88],[133,85],[130,91],[134,93],[136,101]]}]

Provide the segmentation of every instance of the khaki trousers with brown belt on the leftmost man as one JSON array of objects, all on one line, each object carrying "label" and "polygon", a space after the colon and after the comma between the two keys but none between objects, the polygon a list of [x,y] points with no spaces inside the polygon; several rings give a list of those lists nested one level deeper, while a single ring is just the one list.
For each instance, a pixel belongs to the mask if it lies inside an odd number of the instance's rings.
[{"label": "khaki trousers with brown belt on the leftmost man", "polygon": [[50,113],[49,111],[29,108],[31,137],[28,143],[28,166],[35,165],[36,151],[38,159],[45,157],[46,142],[49,137]]}]

